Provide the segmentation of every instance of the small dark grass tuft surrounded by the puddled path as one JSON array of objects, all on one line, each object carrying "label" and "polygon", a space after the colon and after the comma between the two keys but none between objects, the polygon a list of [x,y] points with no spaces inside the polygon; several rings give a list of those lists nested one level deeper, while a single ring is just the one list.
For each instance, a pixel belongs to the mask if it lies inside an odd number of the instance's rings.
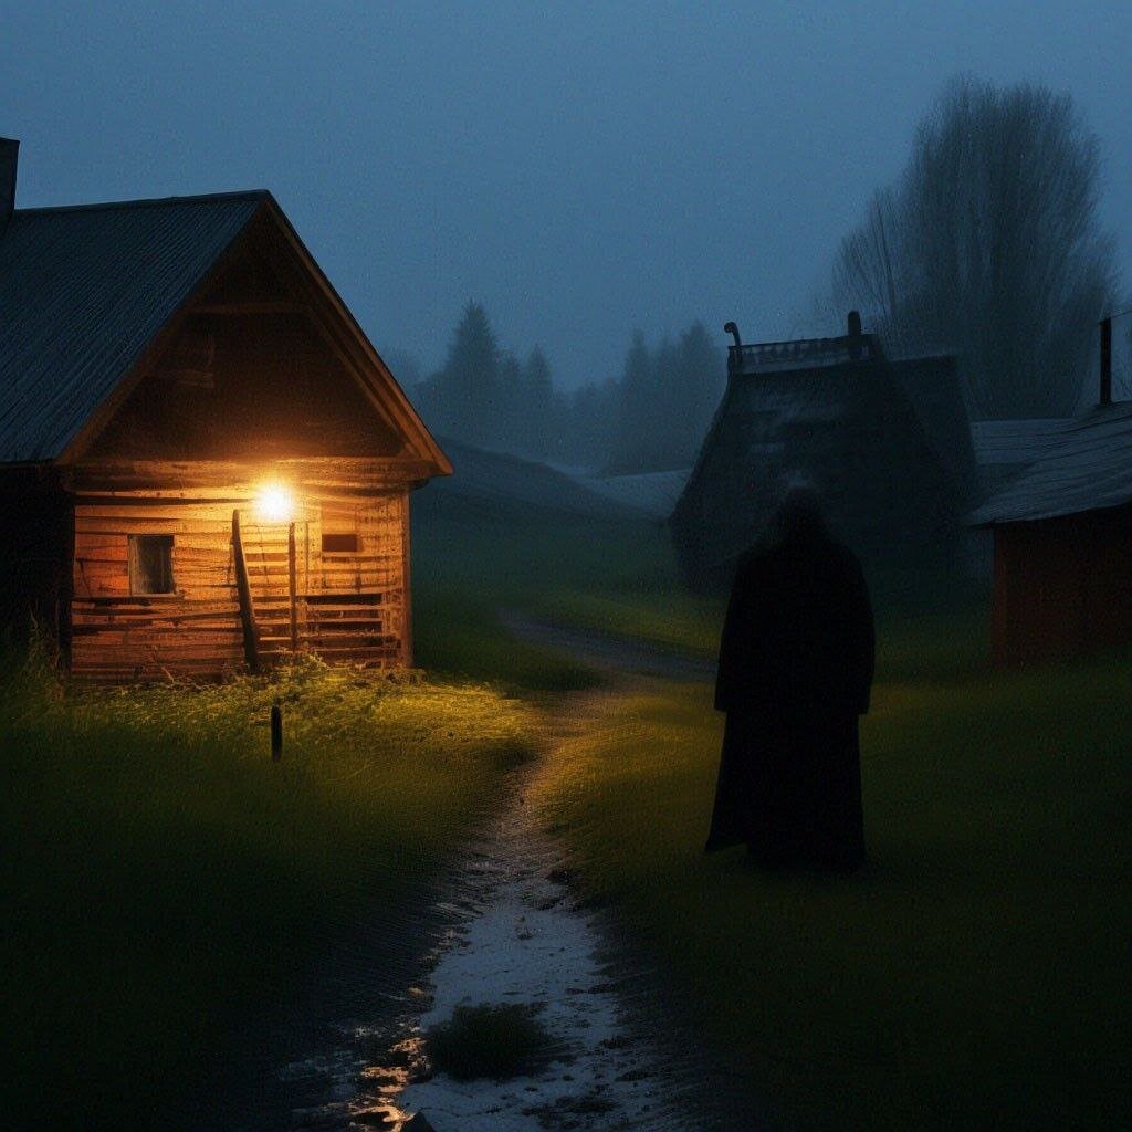
[{"label": "small dark grass tuft surrounded by the puddled path", "polygon": [[457,1006],[428,1031],[434,1067],[457,1081],[538,1071],[554,1056],[555,1044],[534,1015],[535,1007],[520,1003]]}]

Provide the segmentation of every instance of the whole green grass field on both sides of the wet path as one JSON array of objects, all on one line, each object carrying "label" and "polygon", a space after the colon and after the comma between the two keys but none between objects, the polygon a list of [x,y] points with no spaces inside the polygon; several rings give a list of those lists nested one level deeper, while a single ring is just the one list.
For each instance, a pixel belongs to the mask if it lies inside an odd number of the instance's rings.
[{"label": "whole green grass field on both sides of the wet path", "polygon": [[721,726],[706,686],[599,688],[497,617],[711,654],[721,603],[681,593],[666,532],[484,514],[413,533],[431,683],[308,664],[65,696],[8,658],[0,962],[17,1125],[23,1103],[36,1124],[142,1126],[329,935],[410,907],[547,710],[590,689],[591,727],[540,786],[547,821],[787,1121],[1121,1126],[1132,659],[1004,676],[986,660],[985,595],[941,610],[882,594],[871,865],[851,882],[772,880],[741,852],[700,851]]}]

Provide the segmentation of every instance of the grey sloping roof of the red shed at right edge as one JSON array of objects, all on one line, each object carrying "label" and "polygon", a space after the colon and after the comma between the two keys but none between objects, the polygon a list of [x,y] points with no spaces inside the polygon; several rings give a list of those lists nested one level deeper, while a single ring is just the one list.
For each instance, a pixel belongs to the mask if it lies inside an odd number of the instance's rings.
[{"label": "grey sloping roof of the red shed at right edge", "polygon": [[1078,418],[1009,487],[974,512],[975,526],[1118,507],[1132,500],[1132,401]]}]

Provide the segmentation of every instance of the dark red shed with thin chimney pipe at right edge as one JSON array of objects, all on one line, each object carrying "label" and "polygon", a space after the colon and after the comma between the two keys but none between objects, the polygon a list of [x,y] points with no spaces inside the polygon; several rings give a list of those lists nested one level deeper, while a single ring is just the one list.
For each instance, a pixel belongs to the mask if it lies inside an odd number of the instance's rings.
[{"label": "dark red shed with thin chimney pipe at right edge", "polygon": [[1100,404],[971,522],[994,534],[992,646],[1024,664],[1132,642],[1132,402]]}]

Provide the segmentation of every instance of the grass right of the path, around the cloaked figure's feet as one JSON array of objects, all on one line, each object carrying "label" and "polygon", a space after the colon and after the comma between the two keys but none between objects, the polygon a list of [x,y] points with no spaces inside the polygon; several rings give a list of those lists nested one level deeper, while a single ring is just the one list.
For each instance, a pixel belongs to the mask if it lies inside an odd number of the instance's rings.
[{"label": "grass right of the path, around the cloaked figure's feet", "polygon": [[584,886],[788,1126],[1126,1126],[1132,657],[1004,675],[958,625],[885,633],[859,878],[703,856],[705,686],[594,698],[540,783]]}]

